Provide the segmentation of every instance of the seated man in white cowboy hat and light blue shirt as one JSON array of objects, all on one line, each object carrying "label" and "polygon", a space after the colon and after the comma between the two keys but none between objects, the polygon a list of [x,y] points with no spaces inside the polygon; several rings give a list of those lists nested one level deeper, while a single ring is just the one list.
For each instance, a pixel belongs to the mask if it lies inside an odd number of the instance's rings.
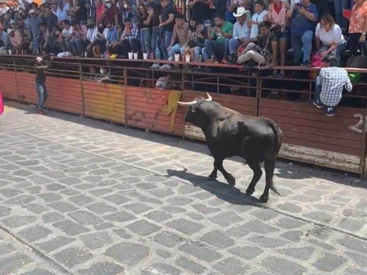
[{"label": "seated man in white cowboy hat and light blue shirt", "polygon": [[233,38],[231,38],[228,42],[228,50],[224,60],[222,61],[223,63],[228,63],[227,59],[230,60],[231,63],[236,63],[236,51],[238,47],[240,47],[241,44],[250,39],[250,29],[249,23],[247,21],[249,14],[250,11],[245,10],[244,7],[238,8],[237,12],[233,13],[233,16],[237,18],[237,22],[233,27]]}]

